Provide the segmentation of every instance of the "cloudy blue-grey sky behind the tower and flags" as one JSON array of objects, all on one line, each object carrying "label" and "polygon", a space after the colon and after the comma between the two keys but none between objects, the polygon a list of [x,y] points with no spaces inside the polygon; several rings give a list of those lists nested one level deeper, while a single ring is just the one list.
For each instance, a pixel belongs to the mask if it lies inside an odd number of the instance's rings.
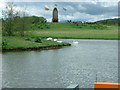
[{"label": "cloudy blue-grey sky behind the tower and flags", "polygon": [[[75,2],[74,2],[75,1]],[[6,2],[0,2],[0,10],[4,10]],[[59,21],[87,21],[94,22],[104,19],[118,18],[118,0],[66,0],[54,1],[26,1],[14,2],[15,10],[21,11],[26,8],[26,15],[45,17],[48,22],[52,21],[52,12],[55,7],[58,9]],[[55,6],[54,4],[57,4]],[[44,8],[49,8],[45,11]],[[63,9],[65,8],[66,11]],[[2,17],[2,14],[0,14]]]}]

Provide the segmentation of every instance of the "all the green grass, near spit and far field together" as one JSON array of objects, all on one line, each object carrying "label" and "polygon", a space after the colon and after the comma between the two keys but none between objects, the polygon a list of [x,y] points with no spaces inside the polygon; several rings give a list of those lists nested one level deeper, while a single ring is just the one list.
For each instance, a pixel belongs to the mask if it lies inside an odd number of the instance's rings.
[{"label": "all the green grass, near spit and far field together", "polygon": [[[47,46],[67,46],[68,43],[58,43],[54,41],[45,40],[47,37],[64,38],[64,39],[118,39],[117,26],[105,25],[89,25],[89,24],[75,24],[75,23],[47,23],[44,29],[37,28],[33,25],[34,29],[30,28],[25,32],[24,37],[20,36],[3,36],[2,47],[4,50],[12,49],[28,49],[40,48]],[[36,42],[37,41],[41,42]]]}]

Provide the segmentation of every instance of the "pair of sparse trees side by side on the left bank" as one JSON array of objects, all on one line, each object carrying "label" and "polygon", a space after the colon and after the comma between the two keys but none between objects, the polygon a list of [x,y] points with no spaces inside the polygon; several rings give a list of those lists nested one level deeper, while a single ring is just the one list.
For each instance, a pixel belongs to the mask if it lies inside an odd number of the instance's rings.
[{"label": "pair of sparse trees side by side on the left bank", "polygon": [[26,30],[26,21],[22,18],[25,16],[25,9],[22,11],[15,10],[16,5],[13,2],[6,4],[2,11],[2,34],[12,36],[18,33],[24,36]]}]

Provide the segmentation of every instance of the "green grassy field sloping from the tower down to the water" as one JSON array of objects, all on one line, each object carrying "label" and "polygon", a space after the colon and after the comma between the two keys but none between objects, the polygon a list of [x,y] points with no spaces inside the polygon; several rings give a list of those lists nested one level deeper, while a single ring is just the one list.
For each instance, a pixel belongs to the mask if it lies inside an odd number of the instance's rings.
[{"label": "green grassy field sloping from the tower down to the water", "polygon": [[118,39],[118,27],[106,25],[75,25],[73,23],[48,23],[49,29],[34,29],[28,36],[67,38],[67,39]]}]

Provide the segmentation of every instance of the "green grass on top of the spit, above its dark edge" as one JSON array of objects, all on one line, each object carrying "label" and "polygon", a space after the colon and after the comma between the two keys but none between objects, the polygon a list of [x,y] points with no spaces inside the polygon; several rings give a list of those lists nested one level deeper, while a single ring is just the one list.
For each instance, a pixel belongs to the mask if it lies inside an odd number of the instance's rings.
[{"label": "green grass on top of the spit, above its dark edge", "polygon": [[46,46],[56,46],[56,45],[69,45],[66,42],[58,43],[54,41],[47,41],[41,39],[42,43],[35,42],[35,38],[31,38],[27,40],[28,37],[16,37],[16,36],[4,36],[2,39],[7,43],[7,45],[3,46],[3,49],[27,49],[27,48],[39,48]]}]

